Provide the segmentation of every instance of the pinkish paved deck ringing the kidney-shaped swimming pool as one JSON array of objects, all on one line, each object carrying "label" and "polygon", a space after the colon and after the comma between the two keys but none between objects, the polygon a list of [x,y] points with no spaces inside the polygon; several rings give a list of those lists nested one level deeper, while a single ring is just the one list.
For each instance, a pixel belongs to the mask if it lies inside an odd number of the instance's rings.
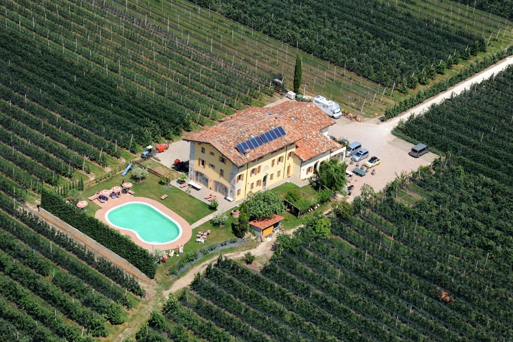
[{"label": "pinkish paved deck ringing the kidney-shaped swimming pool", "polygon": [[[159,209],[164,214],[171,217],[177,223],[180,224],[180,226],[182,227],[182,235],[180,235],[180,237],[178,239],[176,239],[173,242],[168,243],[168,244],[149,244],[149,243],[141,240],[139,237],[137,237],[135,232],[133,232],[131,230],[119,229],[114,226],[111,226],[107,222],[107,219],[105,217],[105,215],[107,214],[107,211],[112,208],[115,208],[117,206],[120,206],[122,204],[130,203],[130,202],[143,202],[143,203],[147,203],[147,204],[152,205],[153,207]],[[95,203],[97,205],[99,205],[100,207],[102,207],[101,209],[98,209],[96,211],[96,213],[94,214],[94,216],[97,219],[101,220],[103,223],[105,223],[109,227],[119,231],[121,234],[129,236],[135,244],[137,244],[138,246],[141,246],[143,248],[146,248],[150,252],[152,252],[155,248],[158,248],[161,251],[176,249],[178,247],[178,245],[185,245],[187,242],[189,242],[189,239],[192,236],[191,225],[189,225],[189,223],[184,218],[182,218],[180,215],[178,215],[177,213],[175,213],[174,211],[172,211],[171,209],[169,209],[168,207],[166,207],[165,205],[163,205],[162,203],[160,203],[157,200],[146,198],[146,197],[132,196],[130,194],[124,193],[119,198],[109,198],[109,200],[105,203],[98,203],[97,201]]]}]

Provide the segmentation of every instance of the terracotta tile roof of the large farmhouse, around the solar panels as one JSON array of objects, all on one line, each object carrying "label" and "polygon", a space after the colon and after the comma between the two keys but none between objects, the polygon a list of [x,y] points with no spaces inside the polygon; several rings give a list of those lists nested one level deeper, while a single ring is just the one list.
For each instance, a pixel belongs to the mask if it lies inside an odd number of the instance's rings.
[{"label": "terracotta tile roof of the large farmhouse, around the solar panels", "polygon": [[[304,157],[303,160],[308,160],[311,157],[307,158],[309,153],[306,150],[310,147],[313,147],[315,151],[323,150],[322,152],[330,148],[336,148],[333,147],[332,140],[326,137],[322,139],[320,135],[323,134],[319,133],[322,129],[333,124],[333,119],[315,107],[313,103],[290,101],[271,108],[246,108],[226,117],[215,126],[189,135],[184,140],[211,144],[233,164],[241,167],[272,151],[297,143],[306,135],[311,137],[302,144],[303,151],[300,151],[301,156],[298,156],[301,159]],[[245,154],[241,154],[236,149],[237,144],[249,139],[251,135],[258,136],[269,131],[271,126],[282,126],[286,134]],[[324,145],[328,147],[324,148]]]}]

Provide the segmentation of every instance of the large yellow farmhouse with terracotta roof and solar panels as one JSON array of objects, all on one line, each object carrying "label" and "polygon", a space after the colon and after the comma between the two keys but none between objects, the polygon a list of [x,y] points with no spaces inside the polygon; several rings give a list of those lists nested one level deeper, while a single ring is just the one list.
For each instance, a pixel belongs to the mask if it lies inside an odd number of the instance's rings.
[{"label": "large yellow farmhouse with terracotta roof and solar panels", "polygon": [[285,177],[309,178],[322,160],[345,154],[328,138],[333,124],[312,103],[249,107],[184,138],[189,178],[235,200]]}]

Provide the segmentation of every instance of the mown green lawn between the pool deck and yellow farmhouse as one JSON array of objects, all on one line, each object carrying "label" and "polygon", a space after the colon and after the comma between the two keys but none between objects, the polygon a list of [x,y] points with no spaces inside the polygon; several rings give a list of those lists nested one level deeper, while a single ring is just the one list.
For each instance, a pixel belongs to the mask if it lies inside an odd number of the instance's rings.
[{"label": "mown green lawn between the pool deck and yellow farmhouse", "polygon": [[[208,209],[208,205],[198,198],[195,198],[185,191],[182,191],[176,187],[165,188],[159,184],[159,177],[149,173],[148,177],[142,182],[133,182],[128,176],[122,177],[121,174],[106,179],[104,182],[98,183],[94,186],[86,188],[84,190],[84,199],[94,195],[97,191],[103,189],[111,189],[113,186],[122,184],[122,180],[125,182],[133,183],[132,190],[135,192],[135,196],[147,197],[161,202],[163,205],[182,216],[189,224],[193,224],[197,220],[209,215],[212,210]],[[168,194],[165,200],[161,200],[160,197],[163,194]],[[89,201],[87,206],[87,212],[91,215],[100,209],[100,207]]]}]

